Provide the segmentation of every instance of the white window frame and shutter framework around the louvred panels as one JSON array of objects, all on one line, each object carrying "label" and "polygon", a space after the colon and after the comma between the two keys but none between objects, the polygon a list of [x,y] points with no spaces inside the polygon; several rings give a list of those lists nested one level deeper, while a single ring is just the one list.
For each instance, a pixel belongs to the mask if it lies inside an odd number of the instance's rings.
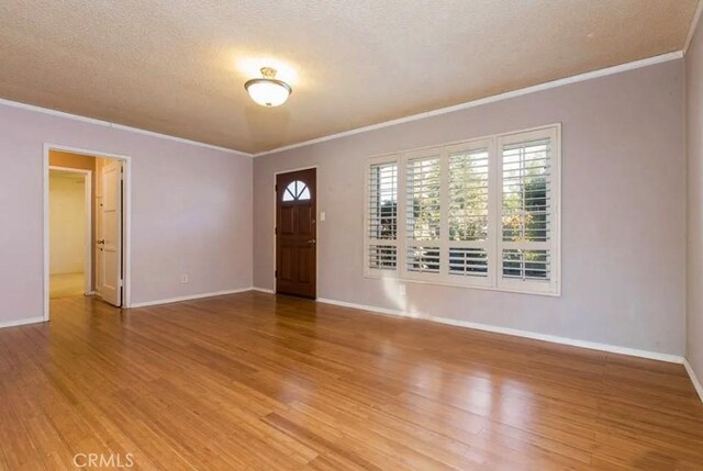
[{"label": "white window frame and shutter framework around the louvred panels", "polygon": [[[549,186],[550,186],[550,237],[548,242],[507,243],[503,242],[502,206],[503,206],[503,146],[532,139],[550,139]],[[459,152],[488,149],[488,235],[486,242],[449,240],[449,156]],[[428,246],[439,248],[439,273],[408,271],[408,248],[416,244],[408,237],[408,162],[411,159],[439,156],[439,239],[427,242]],[[397,165],[397,233],[395,239],[370,238],[370,168],[378,164]],[[561,295],[561,124],[549,124],[527,130],[481,136],[461,142],[427,146],[393,154],[373,156],[364,161],[364,276],[366,278],[390,278],[413,283],[427,283],[459,288],[473,288],[513,293],[539,294],[548,296]],[[390,245],[395,247],[397,263],[394,269],[373,269],[369,267],[370,247]],[[502,276],[502,254],[504,248],[523,246],[525,249],[538,248],[550,250],[550,278],[542,280],[509,279]],[[486,247],[488,270],[486,277],[459,276],[449,273],[449,248]]]}]

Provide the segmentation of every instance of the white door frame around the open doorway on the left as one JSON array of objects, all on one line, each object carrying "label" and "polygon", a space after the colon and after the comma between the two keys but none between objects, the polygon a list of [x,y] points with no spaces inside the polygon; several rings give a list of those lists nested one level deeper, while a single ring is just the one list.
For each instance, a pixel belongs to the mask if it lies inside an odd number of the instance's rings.
[{"label": "white door frame around the open doorway on the left", "polygon": [[[132,305],[132,158],[122,154],[107,153],[102,150],[91,150],[80,147],[65,146],[60,144],[44,143],[42,157],[43,172],[43,256],[44,256],[44,321],[49,319],[49,245],[48,245],[48,170],[49,170],[49,150],[60,150],[74,154],[80,154],[89,157],[104,157],[122,160],[123,182],[122,182],[122,307],[129,309]],[[91,244],[92,245],[92,244]],[[91,247],[92,249],[92,247]]]}]

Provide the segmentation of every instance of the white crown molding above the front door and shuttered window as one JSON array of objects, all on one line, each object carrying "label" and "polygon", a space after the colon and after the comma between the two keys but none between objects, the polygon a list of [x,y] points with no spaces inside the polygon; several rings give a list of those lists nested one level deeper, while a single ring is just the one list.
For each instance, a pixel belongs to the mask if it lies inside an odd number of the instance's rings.
[{"label": "white crown molding above the front door and shuttered window", "polygon": [[585,80],[591,80],[599,77],[605,77],[614,74],[624,72],[627,70],[639,69],[643,67],[654,66],[656,64],[667,63],[669,60],[676,60],[683,57],[683,51],[676,51],[672,53],[661,54],[659,56],[648,57],[646,59],[635,60],[632,63],[621,64],[613,67],[606,67],[604,69],[592,70],[590,72],[579,74],[571,77],[566,77],[558,80],[553,80],[544,83],[539,83],[536,86],[522,88],[518,90],[512,90],[500,94],[494,94],[487,98],[481,98],[478,100],[467,101],[465,103],[454,104],[451,106],[440,108],[438,110],[426,111],[424,113],[412,114],[405,117],[399,117],[397,120],[386,121],[378,124],[371,124],[368,126],[357,127],[349,131],[344,131],[342,133],[330,134],[327,136],[317,137],[310,141],[304,141],[298,144],[291,144],[288,146],[277,147],[271,150],[265,150],[261,153],[254,154],[254,157],[263,157],[269,154],[278,154],[284,150],[291,150],[299,147],[310,146],[312,144],[324,143],[326,141],[337,139],[339,137],[353,136],[355,134],[366,133],[368,131],[380,130],[383,127],[394,126],[397,124],[409,123],[412,121],[424,120],[425,117],[438,116],[442,114],[453,113],[455,111],[466,110],[469,108],[480,106],[482,104],[494,103],[496,101],[507,100],[515,97],[522,97],[524,94],[535,93],[543,90],[548,90],[551,88],[562,87],[565,85],[577,83]]}]

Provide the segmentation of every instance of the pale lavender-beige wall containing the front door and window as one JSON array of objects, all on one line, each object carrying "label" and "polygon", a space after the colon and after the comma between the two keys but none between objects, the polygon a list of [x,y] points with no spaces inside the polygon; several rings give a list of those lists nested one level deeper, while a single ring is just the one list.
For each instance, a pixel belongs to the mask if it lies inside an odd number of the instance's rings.
[{"label": "pale lavender-beige wall containing the front door and window", "polygon": [[[274,288],[274,173],[317,165],[319,296],[681,356],[683,60],[254,159],[254,282]],[[367,157],[562,123],[562,295],[364,277]]]}]

